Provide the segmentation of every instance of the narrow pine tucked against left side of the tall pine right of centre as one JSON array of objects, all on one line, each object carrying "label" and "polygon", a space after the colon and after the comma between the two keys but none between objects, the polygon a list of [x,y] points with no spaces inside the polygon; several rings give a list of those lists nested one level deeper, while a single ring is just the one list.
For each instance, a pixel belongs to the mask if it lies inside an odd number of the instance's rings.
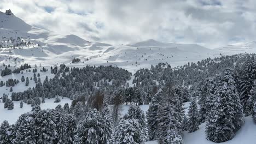
[{"label": "narrow pine tucked against left side of the tall pine right of centre", "polygon": [[149,140],[156,139],[156,132],[158,130],[157,114],[159,109],[159,98],[162,94],[162,89],[159,89],[158,93],[154,95],[147,111],[147,128]]}]

